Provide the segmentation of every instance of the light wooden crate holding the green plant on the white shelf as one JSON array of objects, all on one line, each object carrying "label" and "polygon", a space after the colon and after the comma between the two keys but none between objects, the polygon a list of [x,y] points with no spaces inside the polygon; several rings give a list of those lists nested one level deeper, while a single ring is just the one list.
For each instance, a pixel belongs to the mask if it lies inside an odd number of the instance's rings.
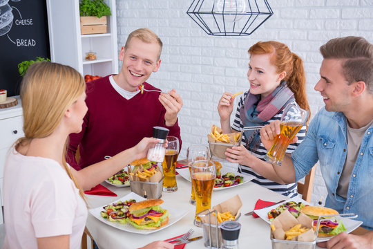
[{"label": "light wooden crate holding the green plant on the white shelf", "polygon": [[108,33],[106,16],[101,18],[80,17],[80,33],[82,35]]}]

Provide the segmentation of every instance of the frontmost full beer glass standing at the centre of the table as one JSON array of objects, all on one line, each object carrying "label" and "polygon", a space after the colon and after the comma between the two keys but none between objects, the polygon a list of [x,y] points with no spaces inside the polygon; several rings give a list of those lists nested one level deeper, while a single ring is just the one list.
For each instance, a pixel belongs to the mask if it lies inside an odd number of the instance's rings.
[{"label": "frontmost full beer glass standing at the centre of the table", "polygon": [[[191,181],[195,191],[195,214],[211,208],[211,194],[216,178],[215,163],[196,160],[191,167]],[[195,225],[200,226],[200,217],[195,215]]]}]

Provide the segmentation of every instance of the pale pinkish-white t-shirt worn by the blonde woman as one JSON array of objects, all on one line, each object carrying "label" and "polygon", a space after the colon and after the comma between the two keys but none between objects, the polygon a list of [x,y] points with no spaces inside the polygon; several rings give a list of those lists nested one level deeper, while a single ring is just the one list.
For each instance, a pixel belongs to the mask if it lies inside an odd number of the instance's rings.
[{"label": "pale pinkish-white t-shirt worn by the blonde woman", "polygon": [[3,248],[37,248],[37,238],[64,234],[70,234],[70,248],[80,248],[86,203],[55,160],[23,156],[12,148],[4,168],[3,197]]}]

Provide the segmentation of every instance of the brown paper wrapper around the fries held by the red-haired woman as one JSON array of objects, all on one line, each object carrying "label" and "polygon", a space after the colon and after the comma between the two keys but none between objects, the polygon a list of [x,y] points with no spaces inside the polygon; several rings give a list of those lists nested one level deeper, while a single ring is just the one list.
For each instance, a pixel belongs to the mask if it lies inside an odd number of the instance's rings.
[{"label": "brown paper wrapper around the fries held by the red-haired woman", "polygon": [[[216,125],[211,126],[211,133],[213,133]],[[222,129],[220,127],[217,127],[216,130],[218,132],[222,132]],[[209,148],[211,151],[211,155],[216,156],[218,158],[225,159],[227,156],[225,156],[225,151],[227,151],[228,148],[231,148],[233,146],[238,146],[240,144],[242,133],[240,132],[233,132],[233,133],[227,133],[229,136],[229,142],[222,142],[219,140],[216,140],[213,138],[210,134],[207,135],[207,140],[209,140]],[[238,136],[239,135],[239,136]],[[238,142],[234,139],[234,136],[238,136]]]}]

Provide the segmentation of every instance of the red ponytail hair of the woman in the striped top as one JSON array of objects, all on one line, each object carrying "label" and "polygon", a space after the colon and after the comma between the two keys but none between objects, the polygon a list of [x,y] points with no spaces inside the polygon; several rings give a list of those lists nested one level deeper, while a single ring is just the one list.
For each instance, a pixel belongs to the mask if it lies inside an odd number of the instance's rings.
[{"label": "red ponytail hair of the woman in the striped top", "polygon": [[311,110],[307,100],[305,69],[302,59],[292,53],[288,46],[275,41],[257,42],[247,52],[250,55],[271,55],[271,64],[276,66],[276,73],[286,72],[286,76],[281,82],[286,81],[287,86],[294,93],[294,98],[300,108],[309,111],[306,122],[308,127]]}]

